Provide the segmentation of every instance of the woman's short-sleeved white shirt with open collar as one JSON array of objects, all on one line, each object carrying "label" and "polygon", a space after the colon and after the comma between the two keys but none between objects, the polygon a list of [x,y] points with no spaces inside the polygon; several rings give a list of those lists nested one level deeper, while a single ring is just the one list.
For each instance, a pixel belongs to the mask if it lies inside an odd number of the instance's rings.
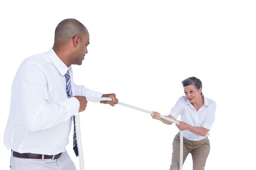
[{"label": "woman's short-sleeved white shirt with open collar", "polygon": [[[195,127],[204,127],[211,129],[215,119],[216,102],[204,97],[204,105],[197,111],[190,101],[182,96],[178,99],[175,106],[169,115],[177,119],[178,115],[181,117],[181,121],[190,124]],[[209,136],[208,132],[206,136]],[[206,136],[196,135],[188,130],[183,131],[183,136],[192,141],[198,141],[204,139]]]}]

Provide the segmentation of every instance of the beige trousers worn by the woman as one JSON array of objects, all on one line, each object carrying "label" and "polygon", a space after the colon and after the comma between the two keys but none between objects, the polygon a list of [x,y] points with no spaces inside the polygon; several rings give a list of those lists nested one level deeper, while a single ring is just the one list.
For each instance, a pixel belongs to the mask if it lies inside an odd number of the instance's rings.
[{"label": "beige trousers worn by the woman", "polygon": [[[204,170],[206,159],[210,152],[210,141],[205,137],[199,141],[191,141],[183,137],[183,163],[189,153],[192,155],[193,170]],[[179,133],[173,140],[173,156],[170,170],[179,169]]]}]

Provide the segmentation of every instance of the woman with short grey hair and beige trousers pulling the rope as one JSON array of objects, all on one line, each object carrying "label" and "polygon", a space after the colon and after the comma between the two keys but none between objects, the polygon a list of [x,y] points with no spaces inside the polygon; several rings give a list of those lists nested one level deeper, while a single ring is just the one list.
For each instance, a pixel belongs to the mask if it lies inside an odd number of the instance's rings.
[{"label": "woman with short grey hair and beige trousers pulling the rope", "polygon": [[[202,82],[196,77],[182,81],[185,96],[178,99],[168,118],[181,121],[176,124],[183,131],[183,163],[189,153],[192,154],[193,170],[204,170],[205,162],[210,152],[209,130],[215,119],[216,103],[202,94]],[[151,114],[152,118],[165,124],[172,124],[161,119],[158,112]],[[179,169],[179,133],[173,141],[173,156],[170,170]]]}]

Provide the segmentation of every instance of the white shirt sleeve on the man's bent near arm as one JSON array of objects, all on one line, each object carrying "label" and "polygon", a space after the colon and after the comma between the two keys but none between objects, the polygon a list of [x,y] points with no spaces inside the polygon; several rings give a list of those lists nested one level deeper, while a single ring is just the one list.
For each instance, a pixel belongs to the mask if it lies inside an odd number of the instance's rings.
[{"label": "white shirt sleeve on the man's bent near arm", "polygon": [[49,101],[46,74],[36,65],[24,66],[15,84],[17,106],[24,114],[22,119],[29,131],[54,127],[78,113],[79,101],[76,98],[56,103]]}]

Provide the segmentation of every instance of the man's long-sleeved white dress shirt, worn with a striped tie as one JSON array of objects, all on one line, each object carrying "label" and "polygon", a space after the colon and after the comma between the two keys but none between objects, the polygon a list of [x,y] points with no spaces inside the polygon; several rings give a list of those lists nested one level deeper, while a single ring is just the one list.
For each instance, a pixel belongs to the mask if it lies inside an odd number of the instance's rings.
[{"label": "man's long-sleeved white dress shirt, worn with a striped tie", "polygon": [[58,154],[65,152],[72,116],[79,111],[79,101],[68,98],[65,74],[71,76],[73,96],[101,97],[75,85],[71,67],[54,50],[25,59],[14,78],[11,107],[4,144],[19,153]]}]

